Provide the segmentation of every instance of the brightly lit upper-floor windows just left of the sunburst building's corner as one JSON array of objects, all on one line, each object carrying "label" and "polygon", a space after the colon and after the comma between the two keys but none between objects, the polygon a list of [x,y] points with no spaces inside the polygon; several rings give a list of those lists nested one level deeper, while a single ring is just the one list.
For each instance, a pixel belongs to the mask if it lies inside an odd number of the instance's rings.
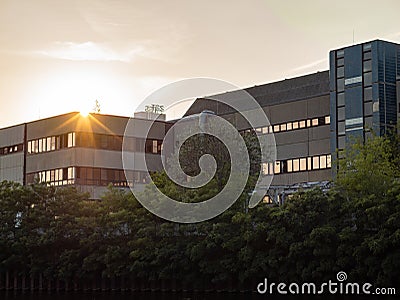
[{"label": "brightly lit upper-floor windows just left of the sunburst building's corner", "polygon": [[28,141],[28,154],[75,147],[75,132]]}]

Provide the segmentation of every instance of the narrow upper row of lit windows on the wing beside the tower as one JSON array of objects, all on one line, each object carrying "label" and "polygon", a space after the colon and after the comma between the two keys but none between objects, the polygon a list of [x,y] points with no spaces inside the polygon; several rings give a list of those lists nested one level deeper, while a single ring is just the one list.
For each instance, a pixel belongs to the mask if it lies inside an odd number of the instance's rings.
[{"label": "narrow upper row of lit windows on the wing beside the tower", "polygon": [[[330,116],[323,116],[313,119],[270,125],[266,127],[258,127],[254,131],[259,134],[278,133],[278,132],[308,128],[308,127],[328,125],[330,124],[330,122],[331,122]],[[251,132],[251,129],[247,129],[244,132]]]}]

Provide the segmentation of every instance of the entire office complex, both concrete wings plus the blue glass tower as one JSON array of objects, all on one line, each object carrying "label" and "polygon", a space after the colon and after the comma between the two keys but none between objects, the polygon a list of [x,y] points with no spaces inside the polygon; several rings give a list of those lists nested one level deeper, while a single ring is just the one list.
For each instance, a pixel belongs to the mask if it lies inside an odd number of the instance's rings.
[{"label": "entire office complex, both concrete wings plus the blue glass tower", "polygon": [[[230,106],[210,98],[196,99],[185,116],[207,110],[239,131],[274,134],[277,160],[262,162],[274,174],[271,190],[332,179],[332,161],[353,137],[365,139],[373,130],[395,129],[400,117],[400,45],[374,40],[332,50],[329,71],[245,89],[271,123],[250,128]],[[217,98],[244,101],[238,91]],[[137,157],[151,156],[150,171],[160,170],[163,138],[172,126],[156,121],[148,139],[140,128],[152,122],[148,112],[135,116],[137,132],[128,137]],[[126,117],[71,113],[0,129],[0,180],[24,184],[35,178],[51,185],[73,184],[98,198],[109,183],[128,187],[147,182],[145,168],[134,163],[125,177],[121,145]],[[137,124],[136,124],[137,123]]]}]

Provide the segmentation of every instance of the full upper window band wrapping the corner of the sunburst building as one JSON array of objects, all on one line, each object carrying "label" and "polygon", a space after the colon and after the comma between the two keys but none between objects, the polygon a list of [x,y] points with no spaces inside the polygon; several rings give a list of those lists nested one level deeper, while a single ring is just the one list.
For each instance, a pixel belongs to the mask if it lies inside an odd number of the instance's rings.
[{"label": "full upper window band wrapping the corner of the sunburst building", "polygon": [[[122,136],[70,132],[28,141],[28,154],[50,152],[70,147],[122,151],[122,141]],[[126,138],[126,146],[128,151],[160,154],[162,140],[128,137]]]}]

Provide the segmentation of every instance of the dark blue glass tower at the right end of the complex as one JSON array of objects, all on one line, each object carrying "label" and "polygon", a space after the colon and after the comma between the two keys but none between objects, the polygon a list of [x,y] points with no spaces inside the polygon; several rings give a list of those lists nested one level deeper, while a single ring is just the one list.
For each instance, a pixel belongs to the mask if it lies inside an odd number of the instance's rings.
[{"label": "dark blue glass tower at the right end of the complex", "polygon": [[400,45],[375,40],[332,50],[329,59],[332,154],[354,138],[364,140],[371,130],[383,135],[395,129]]}]

